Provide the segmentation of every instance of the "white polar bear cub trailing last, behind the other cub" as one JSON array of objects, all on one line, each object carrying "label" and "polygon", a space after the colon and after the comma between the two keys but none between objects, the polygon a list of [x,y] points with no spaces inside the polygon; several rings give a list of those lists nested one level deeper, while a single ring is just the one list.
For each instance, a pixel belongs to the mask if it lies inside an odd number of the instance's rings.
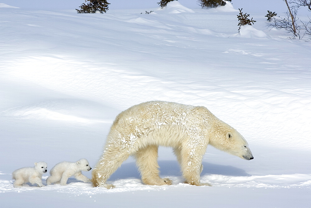
[{"label": "white polar bear cub trailing last, behind the other cub", "polygon": [[14,179],[13,186],[15,188],[22,187],[24,184],[30,182],[31,184],[37,184],[39,187],[44,186],[42,184],[42,174],[47,172],[47,163],[38,162],[35,163],[35,167],[26,167],[15,170],[12,173],[12,179]]}]

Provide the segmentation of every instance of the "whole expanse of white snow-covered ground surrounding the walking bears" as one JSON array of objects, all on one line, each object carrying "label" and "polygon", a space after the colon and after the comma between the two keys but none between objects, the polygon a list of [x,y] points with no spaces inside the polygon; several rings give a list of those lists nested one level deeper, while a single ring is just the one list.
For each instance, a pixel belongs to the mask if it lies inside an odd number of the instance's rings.
[{"label": "whole expanse of white snow-covered ground surrounding the walking bears", "polygon": [[[231,4],[177,1],[106,14],[1,3],[1,207],[309,207],[311,42],[267,29],[266,13],[238,33],[237,14]],[[114,189],[74,178],[13,187],[12,172],[38,161],[48,172],[80,158],[94,167],[115,116],[151,100],[206,106],[244,136],[254,159],[208,147],[201,180],[212,187],[182,183],[169,148],[159,165],[171,186],[142,184],[130,158],[110,177]]]}]

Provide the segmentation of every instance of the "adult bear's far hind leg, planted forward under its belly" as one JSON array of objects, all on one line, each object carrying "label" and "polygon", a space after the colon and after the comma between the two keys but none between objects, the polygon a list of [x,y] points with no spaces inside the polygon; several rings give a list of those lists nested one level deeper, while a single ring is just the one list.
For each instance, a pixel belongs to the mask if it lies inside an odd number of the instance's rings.
[{"label": "adult bear's far hind leg, planted forward under its belly", "polygon": [[168,178],[160,178],[158,165],[158,146],[150,145],[139,149],[136,153],[136,164],[142,176],[142,182],[147,185],[171,185]]}]

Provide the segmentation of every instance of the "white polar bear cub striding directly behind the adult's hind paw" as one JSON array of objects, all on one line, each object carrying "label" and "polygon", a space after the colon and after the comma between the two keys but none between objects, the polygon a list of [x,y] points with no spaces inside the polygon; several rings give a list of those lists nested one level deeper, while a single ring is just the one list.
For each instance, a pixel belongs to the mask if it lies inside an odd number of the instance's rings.
[{"label": "white polar bear cub striding directly behind the adult's hind paw", "polygon": [[46,183],[47,185],[60,183],[60,185],[64,186],[67,184],[68,178],[72,176],[83,182],[91,182],[91,179],[81,173],[82,171],[90,171],[91,169],[89,162],[84,158],[74,163],[67,161],[57,163],[51,169],[50,177],[46,179]]}]

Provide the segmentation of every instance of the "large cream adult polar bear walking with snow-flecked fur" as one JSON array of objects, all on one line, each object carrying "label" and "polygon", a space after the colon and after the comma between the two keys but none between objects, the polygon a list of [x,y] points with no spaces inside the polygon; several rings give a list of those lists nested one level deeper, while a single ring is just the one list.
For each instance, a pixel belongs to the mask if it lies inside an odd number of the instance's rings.
[{"label": "large cream adult polar bear walking with snow-flecked fur", "polygon": [[103,155],[92,172],[93,186],[114,188],[106,181],[129,155],[136,156],[142,182],[172,184],[159,176],[159,145],[174,148],[186,183],[209,185],[200,183],[202,157],[208,144],[240,158],[253,159],[243,136],[203,106],[163,101],[132,106],[121,112],[111,126]]}]

